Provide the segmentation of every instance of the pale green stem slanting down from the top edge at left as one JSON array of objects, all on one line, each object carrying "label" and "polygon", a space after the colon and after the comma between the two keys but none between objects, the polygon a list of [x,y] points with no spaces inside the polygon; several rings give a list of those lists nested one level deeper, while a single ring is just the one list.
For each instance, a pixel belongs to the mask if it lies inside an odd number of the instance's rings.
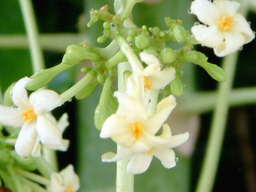
[{"label": "pale green stem slanting down from the top edge at left", "polygon": [[40,48],[39,44],[38,29],[34,16],[35,14],[30,0],[20,0],[20,7],[26,26],[26,32],[28,35],[28,42],[30,45],[30,53],[33,64],[33,71],[35,73],[44,69],[44,58],[42,49]]}]

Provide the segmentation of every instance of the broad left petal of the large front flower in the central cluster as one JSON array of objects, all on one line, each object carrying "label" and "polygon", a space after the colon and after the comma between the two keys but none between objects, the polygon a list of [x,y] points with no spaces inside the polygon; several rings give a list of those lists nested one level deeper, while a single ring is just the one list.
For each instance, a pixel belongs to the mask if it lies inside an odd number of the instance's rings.
[{"label": "broad left petal of the large front flower in the central cluster", "polygon": [[128,131],[129,126],[130,122],[128,122],[126,118],[112,114],[103,123],[100,137],[108,138],[119,134],[125,134]]}]

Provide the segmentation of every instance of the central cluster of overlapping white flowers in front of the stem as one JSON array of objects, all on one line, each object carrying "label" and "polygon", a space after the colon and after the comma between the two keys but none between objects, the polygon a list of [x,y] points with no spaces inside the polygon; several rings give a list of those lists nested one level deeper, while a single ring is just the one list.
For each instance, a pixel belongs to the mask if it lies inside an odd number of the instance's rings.
[{"label": "central cluster of overlapping white flowers in front of the stem", "polygon": [[[168,124],[164,124],[170,112],[175,108],[176,101],[170,95],[162,99],[153,115],[148,115],[149,94],[152,90],[164,88],[175,78],[172,67],[161,70],[161,65],[154,55],[140,53],[140,59],[148,66],[136,70],[131,64],[133,73],[127,79],[126,92],[115,92],[118,99],[118,110],[106,119],[100,132],[101,138],[112,138],[124,147],[117,154],[107,152],[102,155],[103,162],[115,162],[127,156],[130,161],[127,171],[133,174],[145,172],[153,156],[161,160],[166,168],[176,165],[172,148],[184,143],[188,132],[172,136]],[[142,67],[142,66],[141,66]],[[162,133],[157,133],[162,128]]]}]

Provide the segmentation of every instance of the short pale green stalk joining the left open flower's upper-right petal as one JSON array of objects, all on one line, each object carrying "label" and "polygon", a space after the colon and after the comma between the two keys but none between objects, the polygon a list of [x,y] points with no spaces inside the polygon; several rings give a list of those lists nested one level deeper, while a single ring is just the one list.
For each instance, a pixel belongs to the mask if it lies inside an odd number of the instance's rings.
[{"label": "short pale green stalk joining the left open flower's upper-right petal", "polygon": [[78,92],[80,92],[85,86],[87,86],[93,78],[96,76],[94,70],[90,70],[81,80],[74,84],[71,88],[60,94],[61,102],[64,103],[70,100]]}]

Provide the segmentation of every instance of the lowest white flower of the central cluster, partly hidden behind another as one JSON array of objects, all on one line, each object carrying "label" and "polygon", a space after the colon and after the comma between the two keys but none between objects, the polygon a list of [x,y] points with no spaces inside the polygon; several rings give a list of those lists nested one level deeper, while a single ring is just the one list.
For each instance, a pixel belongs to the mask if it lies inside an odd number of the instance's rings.
[{"label": "lowest white flower of the central cluster, partly hidden behind another", "polygon": [[145,172],[152,161],[153,156],[158,158],[165,168],[172,168],[176,166],[175,153],[172,148],[175,148],[188,140],[189,133],[178,134],[172,136],[170,127],[168,124],[163,124],[162,137],[168,140],[165,144],[160,144],[152,147],[150,150],[144,153],[134,153],[130,149],[123,149],[117,154],[107,152],[102,155],[103,162],[115,162],[130,156],[130,161],[127,166],[127,172],[132,174],[140,174]]}]

